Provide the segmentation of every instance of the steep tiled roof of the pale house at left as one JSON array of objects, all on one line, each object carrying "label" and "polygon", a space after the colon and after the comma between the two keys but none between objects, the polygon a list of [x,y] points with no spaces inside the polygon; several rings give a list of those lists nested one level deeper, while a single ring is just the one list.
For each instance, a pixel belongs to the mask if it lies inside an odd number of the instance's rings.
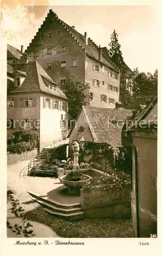
[{"label": "steep tiled roof of the pale house at left", "polygon": [[37,61],[29,62],[27,65],[27,78],[22,82],[19,88],[12,90],[10,93],[20,92],[45,92],[64,99],[65,94],[58,88],[57,91],[50,90],[44,83],[43,78],[58,86],[56,82],[42,69]]}]

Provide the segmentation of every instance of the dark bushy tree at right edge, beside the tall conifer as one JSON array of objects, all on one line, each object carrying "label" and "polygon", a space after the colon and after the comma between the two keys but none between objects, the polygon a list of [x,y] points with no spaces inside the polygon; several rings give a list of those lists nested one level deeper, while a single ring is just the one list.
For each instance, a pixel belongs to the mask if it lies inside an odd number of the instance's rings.
[{"label": "dark bushy tree at right edge, beside the tall conifer", "polygon": [[153,97],[157,95],[157,75],[157,69],[153,75],[149,72],[138,74],[133,81],[133,96],[143,97],[151,95]]}]

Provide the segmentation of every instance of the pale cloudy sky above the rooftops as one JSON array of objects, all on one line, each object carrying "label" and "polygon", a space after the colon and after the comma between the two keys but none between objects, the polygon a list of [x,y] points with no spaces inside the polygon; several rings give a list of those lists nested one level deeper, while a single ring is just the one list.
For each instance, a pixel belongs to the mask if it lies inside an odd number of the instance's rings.
[{"label": "pale cloudy sky above the rooftops", "polygon": [[2,0],[2,34],[8,44],[18,49],[24,45],[27,49],[49,10],[53,9],[66,24],[75,26],[81,34],[87,32],[101,47],[109,48],[115,29],[129,68],[154,73],[158,49],[155,6],[54,6],[49,5],[51,3],[48,0]]}]

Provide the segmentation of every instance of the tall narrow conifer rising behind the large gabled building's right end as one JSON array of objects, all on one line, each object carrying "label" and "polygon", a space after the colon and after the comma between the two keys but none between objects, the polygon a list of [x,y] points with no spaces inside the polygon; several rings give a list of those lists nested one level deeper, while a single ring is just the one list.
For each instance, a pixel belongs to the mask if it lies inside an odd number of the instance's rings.
[{"label": "tall narrow conifer rising behind the large gabled building's right end", "polygon": [[125,108],[129,108],[133,102],[133,98],[130,94],[130,91],[128,90],[129,84],[127,83],[128,76],[126,72],[126,66],[122,56],[121,45],[118,41],[118,34],[115,32],[115,30],[111,34],[109,47],[111,62],[114,67],[120,71],[120,101]]}]

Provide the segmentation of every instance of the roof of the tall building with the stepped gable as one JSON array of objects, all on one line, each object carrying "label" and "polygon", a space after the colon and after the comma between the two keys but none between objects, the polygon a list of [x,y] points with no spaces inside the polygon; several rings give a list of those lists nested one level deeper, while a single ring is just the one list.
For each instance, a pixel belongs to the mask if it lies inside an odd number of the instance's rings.
[{"label": "roof of the tall building with the stepped gable", "polygon": [[[56,15],[56,13],[53,12],[53,10],[50,10],[50,12],[48,13],[47,17],[45,18],[45,21],[43,22],[43,24],[48,22],[48,18],[53,18],[53,19],[59,20],[60,24],[64,27],[64,29],[66,29],[66,31],[72,35],[74,40],[77,40],[80,47],[82,47],[82,49],[85,49],[85,53],[88,56],[90,56],[91,58],[94,58],[97,61],[100,61],[99,60],[99,47],[95,44],[95,42],[93,42],[90,38],[88,38],[88,45],[86,45],[86,43],[84,41],[84,36],[82,34],[80,34],[77,30],[72,28],[71,26],[67,25],[60,18],[58,18],[58,16]],[[43,24],[41,25],[41,28],[43,28]],[[40,31],[41,28],[39,28],[38,31]],[[27,47],[27,50],[25,52],[28,53],[28,51],[30,50],[30,46],[32,45],[33,42],[34,42],[34,39],[30,43],[29,47]],[[102,62],[109,68],[117,71],[117,69],[115,69],[106,58],[102,57],[102,61],[100,61],[100,62]]]}]

